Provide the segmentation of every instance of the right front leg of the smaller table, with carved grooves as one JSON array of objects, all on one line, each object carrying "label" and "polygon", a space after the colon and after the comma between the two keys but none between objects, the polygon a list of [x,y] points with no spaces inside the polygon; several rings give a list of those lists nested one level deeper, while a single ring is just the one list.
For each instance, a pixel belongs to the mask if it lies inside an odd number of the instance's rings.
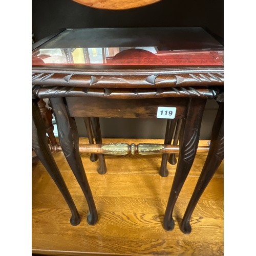
[{"label": "right front leg of the smaller table, with carved grooves", "polygon": [[168,231],[174,228],[174,205],[196,156],[205,103],[205,99],[189,99],[187,114],[180,132],[179,160],[164,214],[163,226]]}]

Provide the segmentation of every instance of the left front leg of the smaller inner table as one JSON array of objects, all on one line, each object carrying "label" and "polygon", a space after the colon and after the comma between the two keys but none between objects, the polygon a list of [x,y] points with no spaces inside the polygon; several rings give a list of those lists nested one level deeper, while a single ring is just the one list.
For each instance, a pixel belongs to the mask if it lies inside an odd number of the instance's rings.
[{"label": "left front leg of the smaller inner table", "polygon": [[62,147],[63,153],[86,197],[89,214],[87,216],[87,222],[93,225],[98,220],[97,210],[93,200],[92,192],[84,172],[82,160],[79,154],[78,146],[78,132],[75,123],[75,119],[70,117],[66,104],[63,98],[51,98],[51,106],[54,112],[54,116],[58,125],[59,142]]}]

